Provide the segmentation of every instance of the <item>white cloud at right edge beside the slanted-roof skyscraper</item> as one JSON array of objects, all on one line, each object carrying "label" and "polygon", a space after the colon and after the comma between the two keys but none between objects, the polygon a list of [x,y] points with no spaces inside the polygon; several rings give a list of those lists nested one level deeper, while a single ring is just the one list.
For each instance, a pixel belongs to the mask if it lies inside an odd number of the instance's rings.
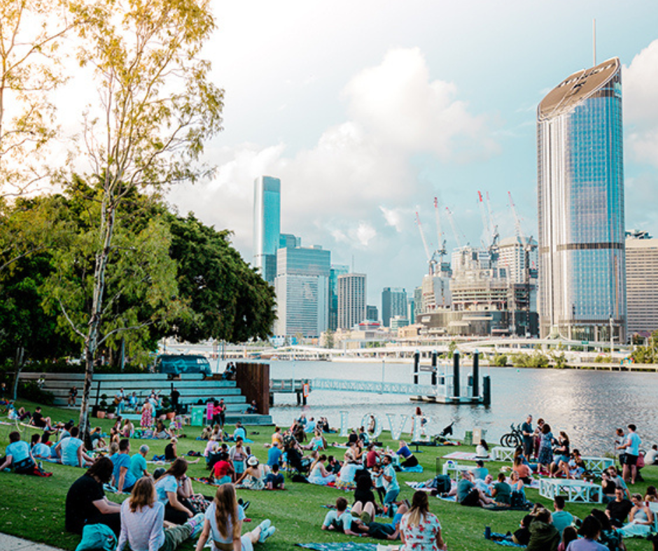
[{"label": "white cloud at right edge beside the slanted-roof skyscraper", "polygon": [[640,162],[658,164],[658,40],[624,68],[626,143]]}]

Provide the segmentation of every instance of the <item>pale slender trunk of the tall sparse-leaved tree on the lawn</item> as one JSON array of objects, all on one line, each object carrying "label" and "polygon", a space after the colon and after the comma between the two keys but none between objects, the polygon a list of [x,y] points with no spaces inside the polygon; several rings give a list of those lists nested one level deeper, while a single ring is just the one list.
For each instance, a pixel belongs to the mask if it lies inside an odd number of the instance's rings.
[{"label": "pale slender trunk of the tall sparse-leaved tree on the lawn", "polygon": [[89,319],[89,329],[85,338],[85,385],[83,387],[82,402],[80,403],[80,439],[89,438],[89,394],[94,379],[94,359],[98,348],[99,329],[101,325],[101,312],[103,309],[103,294],[105,292],[105,273],[109,261],[112,245],[112,236],[115,221],[115,206],[111,199],[102,206],[101,228],[99,231],[102,246],[96,255],[96,268],[94,269],[94,296]]}]

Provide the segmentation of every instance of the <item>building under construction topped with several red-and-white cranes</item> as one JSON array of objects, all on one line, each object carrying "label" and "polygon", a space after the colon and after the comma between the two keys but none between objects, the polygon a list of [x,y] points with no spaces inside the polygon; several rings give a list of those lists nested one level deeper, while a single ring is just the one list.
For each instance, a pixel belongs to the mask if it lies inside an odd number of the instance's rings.
[{"label": "building under construction topped with several red-and-white cranes", "polygon": [[423,300],[416,322],[422,325],[421,334],[430,336],[535,336],[537,244],[522,233],[511,196],[517,231],[514,237],[502,241],[481,194],[479,201],[487,242],[479,248],[461,245],[448,210],[458,243],[449,263],[444,262],[445,241],[440,241],[442,247],[429,255],[417,218],[430,270],[423,277]]}]

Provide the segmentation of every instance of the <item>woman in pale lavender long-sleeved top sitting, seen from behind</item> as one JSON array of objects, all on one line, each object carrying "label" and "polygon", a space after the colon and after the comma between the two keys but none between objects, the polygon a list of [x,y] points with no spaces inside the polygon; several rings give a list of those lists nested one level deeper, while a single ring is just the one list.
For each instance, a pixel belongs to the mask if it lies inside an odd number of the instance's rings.
[{"label": "woman in pale lavender long-sleeved top sitting, seen from behind", "polygon": [[121,532],[117,551],[174,551],[183,541],[201,532],[202,513],[185,524],[165,529],[165,506],[155,493],[151,478],[140,478],[132,494],[121,504]]}]

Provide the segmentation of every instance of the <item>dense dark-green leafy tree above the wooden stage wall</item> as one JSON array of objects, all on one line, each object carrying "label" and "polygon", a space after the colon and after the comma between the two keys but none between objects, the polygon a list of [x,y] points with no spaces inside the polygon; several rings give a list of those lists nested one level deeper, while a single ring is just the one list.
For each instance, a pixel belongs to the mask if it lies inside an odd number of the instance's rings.
[{"label": "dense dark-green leafy tree above the wooden stage wall", "polygon": [[266,339],[275,318],[274,288],[230,244],[230,232],[193,214],[169,215],[170,254],[178,264],[181,299],[193,315],[176,319],[169,334],[185,341]]}]

